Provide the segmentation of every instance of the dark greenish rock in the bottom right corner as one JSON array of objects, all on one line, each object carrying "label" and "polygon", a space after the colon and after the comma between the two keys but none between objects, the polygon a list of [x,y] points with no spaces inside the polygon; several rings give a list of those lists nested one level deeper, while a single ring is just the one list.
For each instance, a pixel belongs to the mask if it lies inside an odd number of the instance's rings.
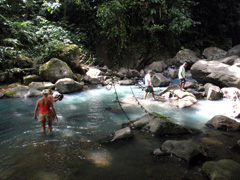
[{"label": "dark greenish rock in the bottom right corner", "polygon": [[231,159],[205,162],[202,170],[211,180],[240,179],[240,164]]}]

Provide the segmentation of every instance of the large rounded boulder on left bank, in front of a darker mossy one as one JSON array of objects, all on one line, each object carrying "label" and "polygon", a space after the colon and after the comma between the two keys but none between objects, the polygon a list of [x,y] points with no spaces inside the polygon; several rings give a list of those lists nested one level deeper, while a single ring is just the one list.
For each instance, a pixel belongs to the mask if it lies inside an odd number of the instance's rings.
[{"label": "large rounded boulder on left bank, in front of a darker mossy one", "polygon": [[55,83],[58,79],[73,78],[74,74],[69,66],[57,58],[52,58],[39,68],[39,75],[43,80]]}]

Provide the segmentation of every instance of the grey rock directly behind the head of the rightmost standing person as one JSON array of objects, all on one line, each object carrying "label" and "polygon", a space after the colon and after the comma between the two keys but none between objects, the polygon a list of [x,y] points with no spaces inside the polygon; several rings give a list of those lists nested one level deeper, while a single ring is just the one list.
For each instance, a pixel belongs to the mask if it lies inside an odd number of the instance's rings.
[{"label": "grey rock directly behind the head of the rightmost standing person", "polygon": [[179,51],[176,56],[173,58],[172,63],[179,67],[184,62],[188,63],[188,67],[191,67],[192,64],[199,60],[197,54],[194,51],[189,49],[184,49]]}]

